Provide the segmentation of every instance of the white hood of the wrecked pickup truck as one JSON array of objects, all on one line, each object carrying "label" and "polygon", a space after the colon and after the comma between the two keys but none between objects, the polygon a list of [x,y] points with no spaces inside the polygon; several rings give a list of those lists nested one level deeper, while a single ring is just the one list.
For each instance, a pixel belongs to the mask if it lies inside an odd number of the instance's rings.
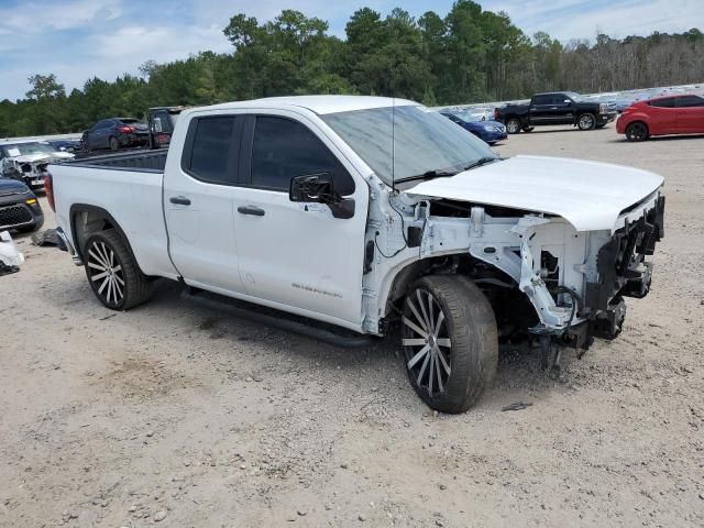
[{"label": "white hood of the wrecked pickup truck", "polygon": [[662,176],[647,170],[565,157],[516,156],[406,193],[546,212],[578,231],[613,230],[624,209],[656,191]]}]

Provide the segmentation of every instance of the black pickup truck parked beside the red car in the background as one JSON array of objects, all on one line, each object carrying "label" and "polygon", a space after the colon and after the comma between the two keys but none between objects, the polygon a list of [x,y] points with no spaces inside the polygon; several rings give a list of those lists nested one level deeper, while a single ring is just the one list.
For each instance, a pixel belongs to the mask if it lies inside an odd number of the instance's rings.
[{"label": "black pickup truck parked beside the red car in the background", "polygon": [[617,116],[614,103],[587,101],[573,91],[537,94],[530,105],[507,105],[494,110],[494,119],[506,124],[509,134],[546,124],[571,124],[580,130],[601,129]]}]

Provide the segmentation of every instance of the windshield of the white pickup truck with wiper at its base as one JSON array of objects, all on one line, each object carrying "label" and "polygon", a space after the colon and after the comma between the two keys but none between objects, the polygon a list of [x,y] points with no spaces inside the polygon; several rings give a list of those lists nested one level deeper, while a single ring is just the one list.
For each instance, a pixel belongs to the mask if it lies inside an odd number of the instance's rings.
[{"label": "windshield of the white pickup truck with wiper at its base", "polygon": [[497,157],[486,143],[420,106],[353,110],[321,119],[387,185],[419,174],[459,172],[479,160]]}]

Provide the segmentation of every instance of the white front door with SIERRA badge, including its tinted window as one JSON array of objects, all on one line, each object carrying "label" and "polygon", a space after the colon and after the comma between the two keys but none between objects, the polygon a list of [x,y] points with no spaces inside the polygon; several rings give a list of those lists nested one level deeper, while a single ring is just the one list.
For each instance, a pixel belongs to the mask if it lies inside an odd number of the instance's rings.
[{"label": "white front door with SIERRA badge, including its tinted window", "polygon": [[[359,328],[366,184],[315,123],[293,112],[248,116],[242,153],[243,184],[233,212],[246,294]],[[334,218],[322,204],[289,199],[293,177],[319,173],[330,173],[336,191],[354,199],[352,218]]]}]

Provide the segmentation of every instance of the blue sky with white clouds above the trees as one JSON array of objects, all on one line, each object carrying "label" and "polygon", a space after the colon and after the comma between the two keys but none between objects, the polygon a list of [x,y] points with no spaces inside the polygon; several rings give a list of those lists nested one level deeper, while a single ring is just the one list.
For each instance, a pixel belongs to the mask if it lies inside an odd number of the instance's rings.
[{"label": "blue sky with white clouds above the trees", "polygon": [[[28,77],[56,74],[67,91],[92,76],[106,80],[139,74],[141,64],[187,58],[210,50],[232,51],[222,34],[243,12],[260,22],[283,9],[297,9],[330,24],[344,37],[350,15],[362,7],[383,14],[402,7],[419,16],[444,16],[453,0],[0,0],[0,100],[24,97]],[[479,0],[505,11],[531,35],[546,31],[566,42],[593,38],[597,29],[613,37],[652,31],[704,30],[704,0]]]}]

